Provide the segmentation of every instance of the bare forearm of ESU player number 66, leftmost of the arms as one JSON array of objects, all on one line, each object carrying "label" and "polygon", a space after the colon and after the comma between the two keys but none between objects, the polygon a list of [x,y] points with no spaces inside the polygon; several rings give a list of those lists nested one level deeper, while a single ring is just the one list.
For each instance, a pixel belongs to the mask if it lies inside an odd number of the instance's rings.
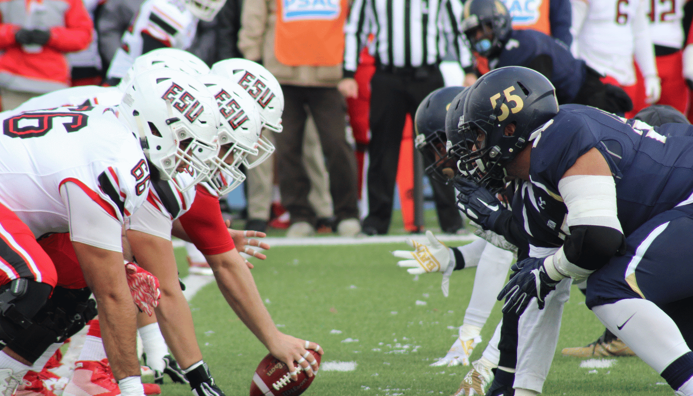
[{"label": "bare forearm of ESU player number 66, leftmost of the arms", "polygon": [[121,252],[73,242],[96,303],[101,338],[116,380],[140,375],[137,322]]}]

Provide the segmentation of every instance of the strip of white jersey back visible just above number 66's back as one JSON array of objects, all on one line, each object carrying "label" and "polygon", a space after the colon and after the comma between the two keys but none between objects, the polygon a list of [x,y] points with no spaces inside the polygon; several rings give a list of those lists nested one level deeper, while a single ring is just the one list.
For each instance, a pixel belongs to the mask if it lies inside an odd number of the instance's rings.
[{"label": "strip of white jersey back visible just above number 66's back", "polygon": [[116,87],[100,87],[98,85],[82,85],[58,89],[22,103],[13,113],[31,110],[51,109],[63,106],[103,105],[116,106],[121,103],[123,92]]}]

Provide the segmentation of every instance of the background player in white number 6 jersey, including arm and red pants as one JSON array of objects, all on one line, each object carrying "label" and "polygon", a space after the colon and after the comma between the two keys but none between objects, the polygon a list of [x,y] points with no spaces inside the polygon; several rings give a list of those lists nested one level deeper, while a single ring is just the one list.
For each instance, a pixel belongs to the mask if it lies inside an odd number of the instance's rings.
[{"label": "background player in white number 6 jersey, including arm and red pants", "polygon": [[[631,118],[646,103],[659,100],[661,87],[644,0],[570,0],[572,5],[573,44],[571,51],[595,69],[604,81],[624,89],[633,101],[626,112]],[[672,4],[673,6],[673,4]],[[644,76],[637,78],[633,59]]]}]

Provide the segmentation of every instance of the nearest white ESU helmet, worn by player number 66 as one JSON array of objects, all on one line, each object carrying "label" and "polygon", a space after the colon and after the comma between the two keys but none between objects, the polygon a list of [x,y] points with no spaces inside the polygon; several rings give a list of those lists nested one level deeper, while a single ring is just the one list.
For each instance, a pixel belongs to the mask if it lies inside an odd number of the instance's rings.
[{"label": "nearest white ESU helmet, worn by player number 66", "polygon": [[174,69],[135,76],[119,105],[119,118],[137,132],[162,180],[188,171],[194,182],[181,187],[186,191],[207,177],[206,164],[219,151],[219,112],[212,94],[195,77]]}]

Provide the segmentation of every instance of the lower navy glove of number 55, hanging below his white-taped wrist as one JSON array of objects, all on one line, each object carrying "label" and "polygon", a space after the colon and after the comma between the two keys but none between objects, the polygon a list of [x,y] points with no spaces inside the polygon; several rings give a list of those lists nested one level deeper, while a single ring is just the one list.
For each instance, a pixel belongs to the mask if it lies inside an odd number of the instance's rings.
[{"label": "lower navy glove of number 55, hanging below his white-taped wrist", "polygon": [[505,298],[503,313],[515,310],[518,315],[522,315],[534,297],[539,309],[544,309],[546,295],[556,290],[556,284],[559,283],[546,275],[544,259],[529,257],[513,264],[510,269],[516,273],[498,294],[499,301]]}]

